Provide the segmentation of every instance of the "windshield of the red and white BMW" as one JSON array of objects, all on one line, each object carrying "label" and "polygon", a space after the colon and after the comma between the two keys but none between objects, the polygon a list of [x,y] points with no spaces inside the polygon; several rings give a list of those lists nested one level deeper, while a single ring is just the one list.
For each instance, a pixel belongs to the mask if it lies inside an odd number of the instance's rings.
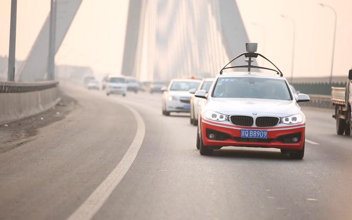
[{"label": "windshield of the red and white BMW", "polygon": [[213,97],[292,100],[284,80],[254,77],[220,78]]}]

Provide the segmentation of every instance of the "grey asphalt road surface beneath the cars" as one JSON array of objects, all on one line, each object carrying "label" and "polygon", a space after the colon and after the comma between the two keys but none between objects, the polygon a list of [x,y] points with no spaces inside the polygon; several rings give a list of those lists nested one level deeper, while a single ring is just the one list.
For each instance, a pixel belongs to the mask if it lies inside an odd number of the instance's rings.
[{"label": "grey asphalt road surface beneath the cars", "polygon": [[336,135],[333,110],[304,109],[303,160],[201,156],[188,114],[163,116],[161,94],[65,89],[78,107],[0,154],[0,219],[352,219],[352,137]]}]

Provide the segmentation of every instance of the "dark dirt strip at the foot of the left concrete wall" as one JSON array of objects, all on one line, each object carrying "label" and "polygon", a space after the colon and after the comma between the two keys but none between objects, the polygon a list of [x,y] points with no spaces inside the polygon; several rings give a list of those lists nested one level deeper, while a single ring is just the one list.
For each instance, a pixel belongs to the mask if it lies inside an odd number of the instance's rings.
[{"label": "dark dirt strip at the foot of the left concrete wall", "polygon": [[60,121],[73,109],[78,108],[77,101],[63,92],[61,101],[41,114],[0,126],[0,154],[15,149],[35,139],[38,129]]}]

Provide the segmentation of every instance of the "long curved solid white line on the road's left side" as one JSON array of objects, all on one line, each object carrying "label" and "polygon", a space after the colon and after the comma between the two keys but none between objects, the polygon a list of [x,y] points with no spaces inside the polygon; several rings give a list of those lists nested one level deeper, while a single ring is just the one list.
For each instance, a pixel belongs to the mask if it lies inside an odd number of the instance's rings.
[{"label": "long curved solid white line on the road's left side", "polygon": [[125,176],[142,145],[145,135],[145,124],[142,117],[131,107],[122,103],[119,104],[131,110],[137,121],[137,132],[131,146],[110,175],[94,190],[86,201],[83,202],[83,204],[70,217],[68,217],[68,220],[90,220],[93,218],[109,198],[112,191],[120,183],[121,179]]}]

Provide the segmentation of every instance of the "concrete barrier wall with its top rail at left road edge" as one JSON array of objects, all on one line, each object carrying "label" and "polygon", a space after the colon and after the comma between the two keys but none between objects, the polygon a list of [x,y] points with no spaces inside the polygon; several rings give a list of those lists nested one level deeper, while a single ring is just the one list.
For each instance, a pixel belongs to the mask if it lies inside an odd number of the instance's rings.
[{"label": "concrete barrier wall with its top rail at left road edge", "polygon": [[0,125],[39,114],[59,101],[58,82],[0,82]]}]

